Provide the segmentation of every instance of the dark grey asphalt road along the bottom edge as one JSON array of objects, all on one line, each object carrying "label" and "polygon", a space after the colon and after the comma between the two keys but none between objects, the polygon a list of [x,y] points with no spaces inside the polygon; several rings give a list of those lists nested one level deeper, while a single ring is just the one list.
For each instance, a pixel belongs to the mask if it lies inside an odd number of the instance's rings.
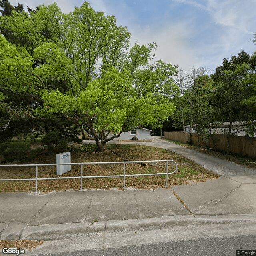
[{"label": "dark grey asphalt road along the bottom edge", "polygon": [[[236,254],[236,250],[254,250]],[[102,250],[81,250],[42,256],[236,256],[256,255],[256,235],[202,238],[139,246],[123,246]]]}]

